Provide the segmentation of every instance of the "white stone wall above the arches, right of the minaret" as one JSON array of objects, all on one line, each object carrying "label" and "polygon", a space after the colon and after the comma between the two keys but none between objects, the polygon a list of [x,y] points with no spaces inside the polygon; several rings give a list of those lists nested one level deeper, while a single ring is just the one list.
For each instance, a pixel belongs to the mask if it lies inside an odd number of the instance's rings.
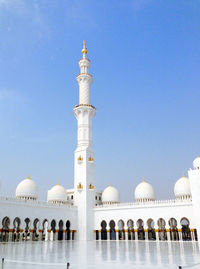
[{"label": "white stone wall above the arches, right of the minaret", "polygon": [[158,228],[157,221],[163,218],[166,222],[166,229],[169,228],[169,219],[175,218],[177,220],[177,228],[181,228],[180,221],[183,217],[190,222],[190,227],[195,228],[196,222],[194,219],[194,212],[191,200],[177,201],[155,201],[145,204],[127,203],[115,204],[109,206],[97,206],[94,211],[95,229],[101,229],[101,222],[107,222],[107,229],[109,229],[109,222],[115,221],[116,229],[118,229],[118,221],[124,221],[124,228],[127,229],[127,222],[129,219],[134,221],[134,228],[137,229],[137,220],[142,219],[144,222],[144,229],[147,229],[147,220],[153,219],[155,229]]}]

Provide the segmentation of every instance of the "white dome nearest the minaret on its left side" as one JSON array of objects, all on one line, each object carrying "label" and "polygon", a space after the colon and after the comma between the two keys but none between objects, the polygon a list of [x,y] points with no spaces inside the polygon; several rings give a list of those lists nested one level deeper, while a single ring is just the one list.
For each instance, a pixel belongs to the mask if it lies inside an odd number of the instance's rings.
[{"label": "white dome nearest the minaret on its left side", "polygon": [[59,183],[52,187],[47,194],[47,201],[52,203],[66,203],[67,192]]}]

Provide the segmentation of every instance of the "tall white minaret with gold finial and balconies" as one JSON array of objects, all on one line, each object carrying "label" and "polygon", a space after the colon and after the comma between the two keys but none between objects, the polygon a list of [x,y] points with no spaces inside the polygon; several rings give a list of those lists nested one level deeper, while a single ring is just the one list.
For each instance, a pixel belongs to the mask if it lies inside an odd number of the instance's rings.
[{"label": "tall white minaret with gold finial and balconies", "polygon": [[74,107],[78,122],[77,148],[74,153],[74,204],[78,207],[79,240],[92,240],[94,230],[94,192],[95,167],[92,148],[92,119],[96,108],[90,104],[90,84],[92,76],[88,73],[90,60],[83,43],[82,59],[79,61],[80,74],[76,80],[79,85],[79,104]]}]

